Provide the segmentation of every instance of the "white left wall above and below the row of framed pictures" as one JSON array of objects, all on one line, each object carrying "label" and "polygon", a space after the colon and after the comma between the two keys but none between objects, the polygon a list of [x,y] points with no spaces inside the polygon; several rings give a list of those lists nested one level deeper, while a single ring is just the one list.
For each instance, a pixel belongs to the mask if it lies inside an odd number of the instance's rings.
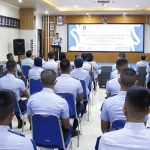
[{"label": "white left wall above and below the row of framed pictures", "polygon": [[[0,15],[19,19],[19,8],[0,1]],[[0,27],[0,61],[13,53],[13,39],[19,38],[19,29]]]}]

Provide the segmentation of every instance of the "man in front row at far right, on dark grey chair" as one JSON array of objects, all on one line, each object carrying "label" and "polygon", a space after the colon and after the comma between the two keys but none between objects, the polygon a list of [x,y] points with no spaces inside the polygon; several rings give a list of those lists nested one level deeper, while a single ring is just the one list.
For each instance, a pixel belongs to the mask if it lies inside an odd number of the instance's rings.
[{"label": "man in front row at far right, on dark grey chair", "polygon": [[135,68],[136,72],[137,73],[139,72],[140,67],[147,67],[147,65],[148,65],[148,62],[146,61],[146,55],[143,54],[141,55],[141,61],[136,63],[136,68]]}]

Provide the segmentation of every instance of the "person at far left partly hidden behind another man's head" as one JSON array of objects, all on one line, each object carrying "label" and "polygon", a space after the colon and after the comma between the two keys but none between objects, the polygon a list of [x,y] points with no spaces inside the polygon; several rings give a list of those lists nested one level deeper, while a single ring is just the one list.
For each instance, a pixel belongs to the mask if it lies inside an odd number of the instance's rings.
[{"label": "person at far left partly hidden behind another man's head", "polygon": [[[8,60],[8,61],[9,61],[9,60],[14,60],[14,56],[13,56],[12,53],[8,53],[8,54],[7,54],[7,60]],[[7,74],[6,64],[3,65],[3,74],[4,74],[4,75]],[[17,69],[16,69],[16,72],[15,72],[15,77],[18,77],[18,76],[24,78],[24,75],[23,75],[23,73],[22,73],[22,70],[21,70],[21,68],[20,68],[20,65],[17,64]]]}]

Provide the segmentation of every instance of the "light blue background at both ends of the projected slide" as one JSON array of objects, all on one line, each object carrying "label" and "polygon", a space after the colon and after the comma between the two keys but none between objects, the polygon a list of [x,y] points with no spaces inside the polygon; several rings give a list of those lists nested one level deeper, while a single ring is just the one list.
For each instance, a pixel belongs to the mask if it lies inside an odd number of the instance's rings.
[{"label": "light blue background at both ends of the projected slide", "polygon": [[[80,24],[78,24],[80,26]],[[86,24],[85,24],[86,25]],[[120,24],[121,25],[121,24]],[[72,37],[70,31],[73,29],[73,28],[76,28],[76,24],[68,24],[68,51],[69,50],[69,47],[71,46],[76,46],[76,42],[74,40],[74,38]],[[139,37],[140,39],[140,43],[139,45],[137,46],[134,46],[135,47],[135,52],[143,52],[144,51],[144,24],[140,24],[140,27],[134,27],[135,28],[135,33],[136,35]],[[79,40],[79,36],[77,35],[76,32],[74,32],[74,34],[76,35],[76,37],[78,38]],[[133,39],[133,41],[136,42],[135,38],[133,37],[132,33],[131,33],[131,37]],[[80,51],[80,50],[76,50],[76,51]],[[94,51],[94,50],[93,50]],[[130,50],[131,51],[131,50]],[[132,51],[131,51],[132,52]]]}]

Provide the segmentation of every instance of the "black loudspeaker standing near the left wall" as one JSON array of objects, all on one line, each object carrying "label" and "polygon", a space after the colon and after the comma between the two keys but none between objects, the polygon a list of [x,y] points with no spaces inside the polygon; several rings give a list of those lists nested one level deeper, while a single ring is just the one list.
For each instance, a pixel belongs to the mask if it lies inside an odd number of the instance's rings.
[{"label": "black loudspeaker standing near the left wall", "polygon": [[14,47],[14,55],[24,55],[25,54],[25,44],[24,39],[14,39],[13,47]]}]

